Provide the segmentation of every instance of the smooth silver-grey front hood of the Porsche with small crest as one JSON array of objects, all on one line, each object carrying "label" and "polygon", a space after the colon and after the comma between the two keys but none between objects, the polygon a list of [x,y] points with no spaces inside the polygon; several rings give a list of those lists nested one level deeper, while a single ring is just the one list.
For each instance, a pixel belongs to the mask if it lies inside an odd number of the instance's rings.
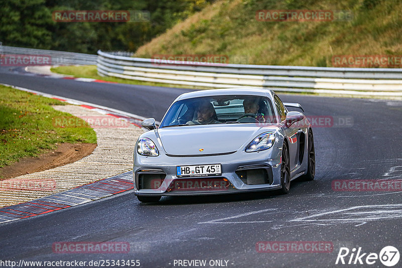
[{"label": "smooth silver-grey front hood of the Porsche with small crest", "polygon": [[167,154],[202,156],[237,151],[255,138],[259,129],[247,124],[215,124],[165,127],[157,132]]}]

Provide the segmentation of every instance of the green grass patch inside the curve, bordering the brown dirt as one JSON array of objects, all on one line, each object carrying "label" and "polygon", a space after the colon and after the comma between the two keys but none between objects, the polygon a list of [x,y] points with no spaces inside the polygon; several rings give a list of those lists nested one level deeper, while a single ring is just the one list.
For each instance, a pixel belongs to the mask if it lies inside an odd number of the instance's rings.
[{"label": "green grass patch inside the curve, bordering the brown dirt", "polygon": [[72,115],[51,105],[64,103],[0,85],[0,167],[56,149],[56,143],[96,143],[95,131],[82,119],[86,127],[54,126],[54,118]]}]

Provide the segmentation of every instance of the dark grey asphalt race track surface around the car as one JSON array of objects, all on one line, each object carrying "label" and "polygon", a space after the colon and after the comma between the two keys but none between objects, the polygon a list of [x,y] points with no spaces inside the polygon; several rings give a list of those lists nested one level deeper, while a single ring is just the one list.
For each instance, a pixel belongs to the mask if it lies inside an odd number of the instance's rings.
[{"label": "dark grey asphalt race track surface around the car", "polygon": [[[157,120],[176,96],[190,91],[44,78],[21,69],[0,69],[0,82]],[[401,191],[334,191],[331,183],[402,179],[402,102],[280,96],[302,104],[307,115],[352,118],[348,126],[314,127],[314,181],[293,181],[287,195],[164,197],[157,204],[141,204],[132,191],[126,192],[0,225],[0,260],[139,259],[141,267],[173,267],[175,259],[206,259],[208,267],[210,260],[222,259],[230,267],[385,267],[379,260],[373,265],[335,261],[340,247],[377,254],[387,245],[402,249]],[[53,253],[52,244],[58,241],[123,241],[130,243],[130,252]],[[256,251],[258,241],[330,241],[334,248],[325,253],[261,253]]]}]

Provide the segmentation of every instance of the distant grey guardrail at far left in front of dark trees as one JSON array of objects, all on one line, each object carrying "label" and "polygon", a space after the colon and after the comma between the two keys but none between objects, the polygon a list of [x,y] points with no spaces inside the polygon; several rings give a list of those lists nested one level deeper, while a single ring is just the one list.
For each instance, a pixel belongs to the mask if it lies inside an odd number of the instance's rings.
[{"label": "distant grey guardrail at far left in front of dark trees", "polygon": [[51,65],[94,65],[96,64],[96,55],[64,52],[56,50],[32,49],[9,47],[0,45],[0,54],[2,55],[34,55],[49,56]]}]

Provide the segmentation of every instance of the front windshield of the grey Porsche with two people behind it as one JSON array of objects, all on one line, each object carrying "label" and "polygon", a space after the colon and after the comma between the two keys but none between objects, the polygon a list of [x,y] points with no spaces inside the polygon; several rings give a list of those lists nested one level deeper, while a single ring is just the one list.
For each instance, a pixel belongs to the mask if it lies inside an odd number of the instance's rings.
[{"label": "front windshield of the grey Porsche with two people behind it", "polygon": [[220,95],[176,101],[166,113],[160,127],[274,122],[276,117],[269,98],[252,95]]}]

